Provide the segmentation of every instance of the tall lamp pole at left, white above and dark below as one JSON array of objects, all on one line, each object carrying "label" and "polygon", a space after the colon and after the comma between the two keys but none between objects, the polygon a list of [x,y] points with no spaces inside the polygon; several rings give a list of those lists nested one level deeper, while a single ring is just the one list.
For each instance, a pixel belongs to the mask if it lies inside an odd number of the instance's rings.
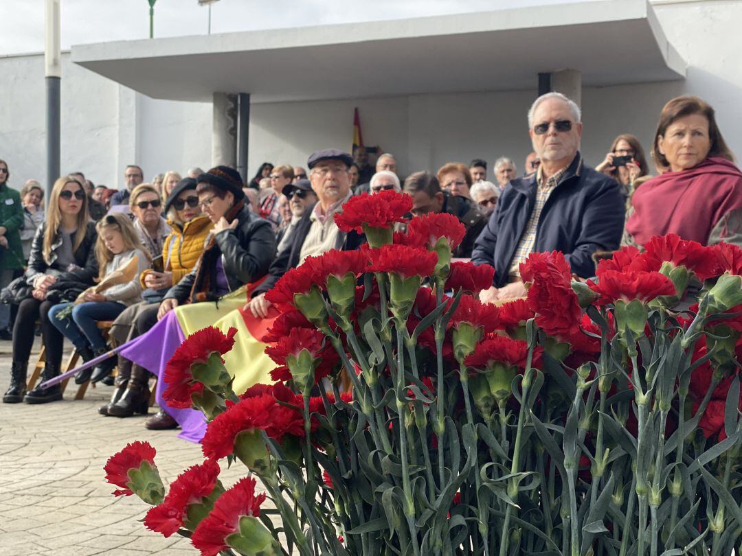
[{"label": "tall lamp pole at left, white above and dark below", "polygon": [[51,195],[54,182],[59,178],[60,142],[60,85],[62,81],[61,41],[59,25],[59,0],[46,0],[44,74],[46,77],[46,131],[47,131],[47,181],[46,199]]}]

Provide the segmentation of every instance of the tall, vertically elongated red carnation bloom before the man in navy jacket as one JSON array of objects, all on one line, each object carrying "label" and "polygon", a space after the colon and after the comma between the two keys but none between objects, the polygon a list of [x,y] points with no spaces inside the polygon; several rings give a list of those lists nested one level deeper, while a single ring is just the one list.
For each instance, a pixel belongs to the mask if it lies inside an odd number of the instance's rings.
[{"label": "tall, vertically elongated red carnation bloom before the man in navy jacket", "polygon": [[520,265],[520,275],[523,282],[531,282],[528,306],[536,313],[539,327],[557,339],[569,337],[580,328],[582,309],[562,253],[531,253]]}]

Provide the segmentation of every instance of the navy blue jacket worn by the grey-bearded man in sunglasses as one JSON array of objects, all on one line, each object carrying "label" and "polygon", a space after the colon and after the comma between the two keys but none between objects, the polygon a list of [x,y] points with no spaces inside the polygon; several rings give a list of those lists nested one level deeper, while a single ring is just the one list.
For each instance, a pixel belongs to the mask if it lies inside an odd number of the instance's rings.
[{"label": "navy blue jacket worn by the grey-bearded man in sunglasses", "polygon": [[[497,288],[508,283],[510,264],[535,202],[536,174],[513,179],[476,239],[471,260],[495,267]],[[577,153],[542,208],[534,251],[562,251],[573,274],[591,277],[592,255],[618,248],[623,220],[624,200],[617,182],[586,166]]]}]

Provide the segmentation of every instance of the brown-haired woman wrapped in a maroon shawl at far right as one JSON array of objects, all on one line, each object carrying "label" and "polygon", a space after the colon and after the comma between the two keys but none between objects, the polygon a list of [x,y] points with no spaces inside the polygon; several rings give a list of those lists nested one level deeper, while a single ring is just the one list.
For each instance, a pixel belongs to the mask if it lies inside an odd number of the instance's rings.
[{"label": "brown-haired woman wrapped in a maroon shawl at far right", "polygon": [[651,156],[660,175],[632,196],[625,243],[672,233],[701,245],[742,245],[742,172],[708,103],[696,96],[668,102]]}]

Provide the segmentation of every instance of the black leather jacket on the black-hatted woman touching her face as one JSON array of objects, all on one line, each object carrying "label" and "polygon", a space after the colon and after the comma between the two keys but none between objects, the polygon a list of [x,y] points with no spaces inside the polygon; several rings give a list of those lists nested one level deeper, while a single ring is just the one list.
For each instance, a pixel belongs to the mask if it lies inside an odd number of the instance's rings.
[{"label": "black leather jacket on the black-hatted woman touching her face", "polygon": [[[222,260],[229,291],[262,278],[276,254],[276,239],[267,220],[244,206],[237,213],[237,228],[206,237],[206,246],[195,268],[165,294],[165,299],[193,302],[216,299],[217,261]],[[204,294],[197,298],[197,294]]]}]

